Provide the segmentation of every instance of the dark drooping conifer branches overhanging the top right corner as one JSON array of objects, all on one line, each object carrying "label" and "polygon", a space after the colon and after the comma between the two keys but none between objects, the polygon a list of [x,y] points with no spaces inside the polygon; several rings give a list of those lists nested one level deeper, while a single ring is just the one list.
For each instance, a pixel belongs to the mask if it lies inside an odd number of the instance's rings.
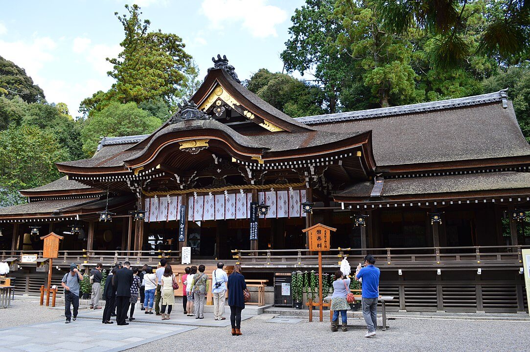
[{"label": "dark drooping conifer branches overhanging the top right corner", "polygon": [[[384,28],[403,34],[417,28],[435,38],[432,59],[438,67],[456,68],[470,55],[466,32],[466,6],[462,0],[374,0]],[[530,3],[528,0],[487,0],[480,33],[480,51],[502,60],[521,58],[530,53]]]}]

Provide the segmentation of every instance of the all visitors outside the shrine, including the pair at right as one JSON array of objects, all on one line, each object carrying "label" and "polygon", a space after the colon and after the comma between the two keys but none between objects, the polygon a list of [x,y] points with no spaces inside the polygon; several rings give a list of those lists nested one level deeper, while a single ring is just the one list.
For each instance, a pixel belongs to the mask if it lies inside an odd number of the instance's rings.
[{"label": "all visitors outside the shrine, including the pair at right", "polygon": [[[365,337],[375,336],[377,327],[377,301],[379,297],[379,268],[374,266],[375,259],[372,255],[366,255],[364,265],[359,264],[355,272],[355,279],[362,281],[362,308],[368,332]],[[91,309],[101,309],[98,305],[101,296],[101,274],[103,266],[97,264],[90,272],[92,282]],[[240,336],[241,312],[245,308],[246,290],[245,277],[241,274],[241,265],[236,264],[230,275],[223,270],[224,264],[217,263],[217,269],[211,273],[211,292],[214,300],[214,320],[226,320],[223,317],[225,310],[226,291],[228,290],[228,305],[230,306],[230,323],[232,335]],[[116,317],[118,325],[128,325],[126,321],[135,320],[133,317],[135,305],[140,298],[142,310],[145,314],[161,315],[162,320],[169,320],[173,305],[175,304],[175,290],[179,290],[182,283],[182,309],[184,315],[204,319],[204,306],[209,288],[209,277],[205,274],[204,265],[186,267],[185,274],[179,280],[180,274],[173,273],[171,265],[166,259],[161,259],[159,267],[153,273],[153,268],[144,265],[140,272],[137,267],[130,269],[130,263],[116,263],[112,268],[105,287],[103,296],[105,308],[103,309],[102,322],[112,324],[111,317]],[[348,270],[349,271],[349,270]],[[80,283],[83,275],[77,269],[76,264],[70,265],[70,272],[65,274],[61,285],[65,290],[65,317],[66,323],[77,319],[79,309]],[[337,270],[334,274],[333,294],[331,299],[331,310],[333,317],[331,331],[338,331],[339,314],[341,315],[342,331],[347,331],[347,311],[350,309],[348,295],[350,293],[350,279],[347,274]],[[70,311],[73,306],[73,314]],[[127,313],[129,315],[127,315]]]}]

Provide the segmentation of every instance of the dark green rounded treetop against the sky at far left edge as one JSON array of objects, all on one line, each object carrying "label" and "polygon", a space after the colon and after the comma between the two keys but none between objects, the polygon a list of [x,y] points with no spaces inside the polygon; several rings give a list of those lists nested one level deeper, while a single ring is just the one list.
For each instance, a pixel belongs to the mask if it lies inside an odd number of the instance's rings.
[{"label": "dark green rounded treetop against the sky at far left edge", "polygon": [[44,100],[44,92],[39,86],[33,84],[33,80],[26,74],[26,71],[0,56],[1,94],[8,99],[19,96],[28,103]]}]

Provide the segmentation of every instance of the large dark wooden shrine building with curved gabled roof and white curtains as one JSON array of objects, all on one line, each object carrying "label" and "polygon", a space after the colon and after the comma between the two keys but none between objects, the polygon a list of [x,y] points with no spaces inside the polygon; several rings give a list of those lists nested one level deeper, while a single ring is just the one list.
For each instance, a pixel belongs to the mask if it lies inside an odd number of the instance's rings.
[{"label": "large dark wooden shrine building with curved gabled roof and white curtains", "polygon": [[[302,231],[336,228],[325,272],[366,253],[389,309],[518,312],[530,248],[530,146],[506,91],[293,119],[246,89],[225,57],[155,132],[105,137],[90,159],[0,209],[1,259],[38,294],[40,236],[70,263],[239,262],[245,276],[316,269]],[[260,215],[260,213],[266,213]],[[145,219],[144,219],[145,218]]]}]

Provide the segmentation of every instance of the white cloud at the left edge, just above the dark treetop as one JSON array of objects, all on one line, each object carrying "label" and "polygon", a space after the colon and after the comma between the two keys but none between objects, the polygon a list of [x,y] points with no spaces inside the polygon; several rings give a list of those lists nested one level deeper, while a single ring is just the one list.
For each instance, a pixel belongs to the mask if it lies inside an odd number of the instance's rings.
[{"label": "white cloud at the left edge, just above the dark treetop", "polygon": [[33,80],[47,62],[55,60],[52,52],[56,47],[55,41],[49,37],[34,37],[32,42],[0,40],[2,56],[24,68]]}]

